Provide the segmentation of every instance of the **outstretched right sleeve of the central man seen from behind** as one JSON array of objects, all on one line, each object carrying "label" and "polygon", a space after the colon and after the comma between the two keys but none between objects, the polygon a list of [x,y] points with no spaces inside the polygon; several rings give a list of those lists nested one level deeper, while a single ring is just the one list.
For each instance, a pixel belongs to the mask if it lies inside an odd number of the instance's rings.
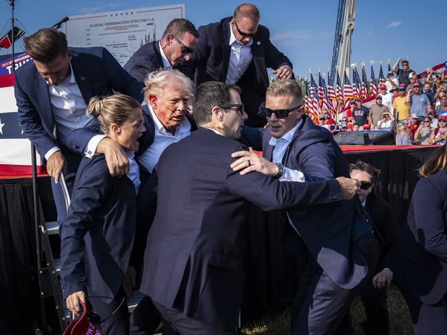
[{"label": "outstretched right sleeve of the central man seen from behind", "polygon": [[[244,148],[241,146],[238,150],[244,150]],[[281,183],[278,179],[259,172],[250,172],[241,176],[239,172],[229,169],[226,185],[232,194],[245,198],[264,211],[305,209],[309,205],[323,205],[344,199],[336,180]]]}]

